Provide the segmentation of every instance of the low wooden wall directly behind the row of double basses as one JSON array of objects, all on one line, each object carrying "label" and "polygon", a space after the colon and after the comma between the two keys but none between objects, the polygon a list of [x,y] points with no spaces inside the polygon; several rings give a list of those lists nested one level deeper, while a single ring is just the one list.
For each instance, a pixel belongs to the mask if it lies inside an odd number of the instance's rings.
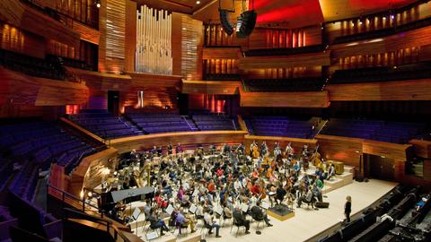
[{"label": "low wooden wall directly behind the row of double basses", "polygon": [[251,143],[255,141],[256,143],[266,142],[268,145],[268,150],[271,154],[273,154],[274,151],[274,144],[280,143],[280,148],[282,151],[286,150],[286,146],[288,143],[291,143],[292,148],[294,148],[295,154],[300,153],[303,151],[303,145],[308,145],[308,150],[313,151],[316,148],[317,140],[309,140],[309,139],[298,139],[298,138],[289,138],[289,137],[273,137],[273,136],[256,136],[256,135],[249,135],[246,134],[244,136],[244,146],[245,151],[247,153],[250,152],[250,145]]}]

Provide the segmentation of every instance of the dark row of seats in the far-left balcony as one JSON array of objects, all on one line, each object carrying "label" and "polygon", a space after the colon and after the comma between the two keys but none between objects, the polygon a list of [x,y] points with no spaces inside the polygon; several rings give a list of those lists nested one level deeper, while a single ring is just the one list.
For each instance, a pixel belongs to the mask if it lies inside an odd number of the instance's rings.
[{"label": "dark row of seats in the far-left balcony", "polygon": [[0,65],[15,72],[36,77],[56,80],[65,80],[66,78],[63,66],[53,58],[41,59],[0,49]]}]

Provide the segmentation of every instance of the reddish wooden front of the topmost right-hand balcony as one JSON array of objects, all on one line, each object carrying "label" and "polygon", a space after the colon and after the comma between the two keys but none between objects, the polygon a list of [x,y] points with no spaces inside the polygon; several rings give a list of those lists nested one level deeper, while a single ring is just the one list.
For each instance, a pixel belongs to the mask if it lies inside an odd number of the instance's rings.
[{"label": "reddish wooden front of the topmost right-hand balcony", "polygon": [[342,58],[347,56],[387,53],[399,49],[422,47],[430,44],[431,26],[427,26],[380,39],[365,39],[352,43],[332,45],[330,50],[333,58]]}]

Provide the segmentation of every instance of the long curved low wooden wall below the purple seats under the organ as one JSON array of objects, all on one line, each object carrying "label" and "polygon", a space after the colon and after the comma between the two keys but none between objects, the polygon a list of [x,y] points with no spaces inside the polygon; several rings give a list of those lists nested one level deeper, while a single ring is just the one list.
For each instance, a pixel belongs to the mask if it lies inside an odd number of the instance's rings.
[{"label": "long curved low wooden wall below the purple seats under the organ", "polygon": [[119,153],[132,151],[133,149],[150,149],[154,144],[182,143],[242,143],[244,131],[198,131],[179,132],[166,134],[148,134],[134,137],[119,138],[110,141],[110,145]]}]

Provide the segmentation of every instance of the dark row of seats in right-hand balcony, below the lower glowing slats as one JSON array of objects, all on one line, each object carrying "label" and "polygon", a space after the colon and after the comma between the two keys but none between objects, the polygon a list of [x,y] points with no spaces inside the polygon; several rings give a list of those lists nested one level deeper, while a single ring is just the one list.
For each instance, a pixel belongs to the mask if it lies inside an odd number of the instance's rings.
[{"label": "dark row of seats in right-hand balcony, below the lower glowing slats", "polygon": [[431,62],[420,62],[394,67],[375,66],[337,70],[330,77],[331,84],[358,82],[391,82],[431,77]]}]

